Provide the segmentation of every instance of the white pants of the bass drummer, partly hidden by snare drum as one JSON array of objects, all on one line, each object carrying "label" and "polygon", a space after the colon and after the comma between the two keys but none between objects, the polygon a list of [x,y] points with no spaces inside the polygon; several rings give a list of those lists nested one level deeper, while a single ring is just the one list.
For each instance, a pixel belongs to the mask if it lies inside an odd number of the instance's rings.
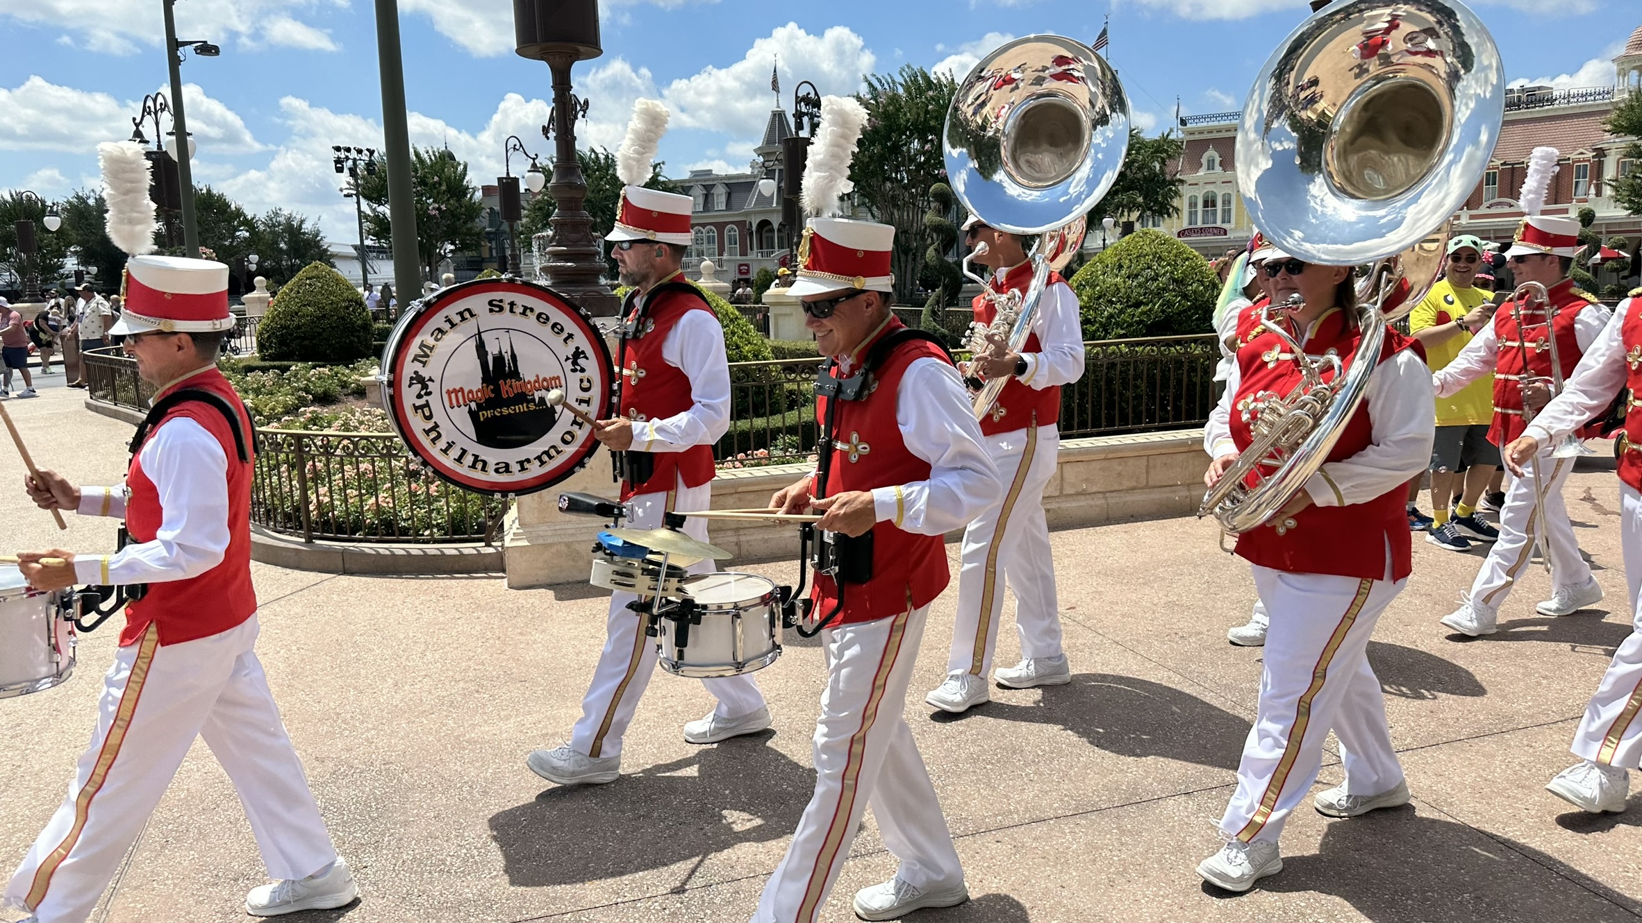
[{"label": "white pants of the bass drummer, partly hidden by snare drum", "polygon": [[[629,500],[627,528],[654,530],[662,526],[662,513],[677,510],[706,510],[713,505],[713,482],[701,487],[678,487],[672,493],[639,493]],[[690,518],[685,534],[698,541],[708,539],[708,521]],[[691,574],[711,574],[713,561],[690,567]],[[611,593],[611,610],[606,621],[604,651],[593,669],[593,685],[581,698],[581,718],[570,734],[570,746],[591,757],[621,756],[621,739],[632,723],[644,689],[655,672],[655,638],[639,630],[639,613],[627,608],[637,600],[634,593]],[[716,712],[724,718],[739,718],[764,708],[764,693],[752,674],[722,679],[704,679],[703,685],[718,697]]]}]

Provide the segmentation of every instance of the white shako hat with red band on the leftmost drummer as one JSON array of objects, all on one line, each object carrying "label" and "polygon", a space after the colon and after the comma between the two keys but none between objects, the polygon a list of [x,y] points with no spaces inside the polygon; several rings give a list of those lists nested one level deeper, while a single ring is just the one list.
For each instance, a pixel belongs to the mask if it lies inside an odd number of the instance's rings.
[{"label": "white shako hat with red band on the leftmost drummer", "polygon": [[228,267],[213,259],[133,256],[120,285],[120,321],[108,333],[209,333],[233,330]]}]

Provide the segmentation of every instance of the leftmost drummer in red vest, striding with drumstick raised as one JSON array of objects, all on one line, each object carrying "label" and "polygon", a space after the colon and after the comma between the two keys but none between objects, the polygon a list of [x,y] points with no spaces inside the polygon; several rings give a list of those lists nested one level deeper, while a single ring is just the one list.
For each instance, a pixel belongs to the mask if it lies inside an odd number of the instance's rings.
[{"label": "leftmost drummer in red vest, striding with drumstick raised", "polygon": [[[103,162],[120,169],[107,151]],[[138,169],[146,177],[146,164]],[[353,874],[325,831],[255,651],[251,416],[217,371],[233,326],[228,267],[133,256],[126,272],[125,313],[112,333],[125,336],[156,392],[125,482],[74,487],[41,471],[25,485],[44,510],[123,516],[131,544],[112,556],[18,557],[39,590],[143,584],[146,593],[126,607],[74,784],[11,875],[5,903],[38,923],[84,921],[194,739],[205,738],[240,793],[268,874],[281,879],[253,889],[246,913],[342,907],[358,895]],[[48,566],[43,556],[67,562]]]}]

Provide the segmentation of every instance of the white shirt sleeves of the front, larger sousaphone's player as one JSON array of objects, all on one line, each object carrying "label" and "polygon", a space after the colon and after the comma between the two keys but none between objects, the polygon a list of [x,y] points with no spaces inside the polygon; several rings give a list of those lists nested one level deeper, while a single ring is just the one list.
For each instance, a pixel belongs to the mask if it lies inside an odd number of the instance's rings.
[{"label": "white shirt sleeves of the front, larger sousaphone's player", "polygon": [[[1312,328],[1315,330],[1315,323]],[[1307,330],[1305,336],[1310,334],[1312,330]],[[1241,379],[1241,367],[1233,364],[1227,390],[1204,428],[1204,451],[1209,457],[1236,451],[1232,441],[1232,403]],[[1368,446],[1351,457],[1323,462],[1305,482],[1305,493],[1319,507],[1366,503],[1407,484],[1430,464],[1437,407],[1430,398],[1430,372],[1412,349],[1392,354],[1374,369],[1363,407],[1369,418]]]}]

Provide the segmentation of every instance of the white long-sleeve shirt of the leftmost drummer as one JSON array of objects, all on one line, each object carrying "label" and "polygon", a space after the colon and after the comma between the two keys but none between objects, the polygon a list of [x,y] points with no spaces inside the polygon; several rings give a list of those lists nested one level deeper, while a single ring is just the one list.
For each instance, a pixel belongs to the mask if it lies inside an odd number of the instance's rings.
[{"label": "white long-sleeve shirt of the leftmost drummer", "polygon": [[[228,457],[204,426],[187,416],[159,425],[136,454],[159,492],[161,521],[153,541],[115,554],[76,557],[82,584],[163,584],[199,577],[228,551]],[[77,513],[125,516],[130,490],[82,487]]]}]

